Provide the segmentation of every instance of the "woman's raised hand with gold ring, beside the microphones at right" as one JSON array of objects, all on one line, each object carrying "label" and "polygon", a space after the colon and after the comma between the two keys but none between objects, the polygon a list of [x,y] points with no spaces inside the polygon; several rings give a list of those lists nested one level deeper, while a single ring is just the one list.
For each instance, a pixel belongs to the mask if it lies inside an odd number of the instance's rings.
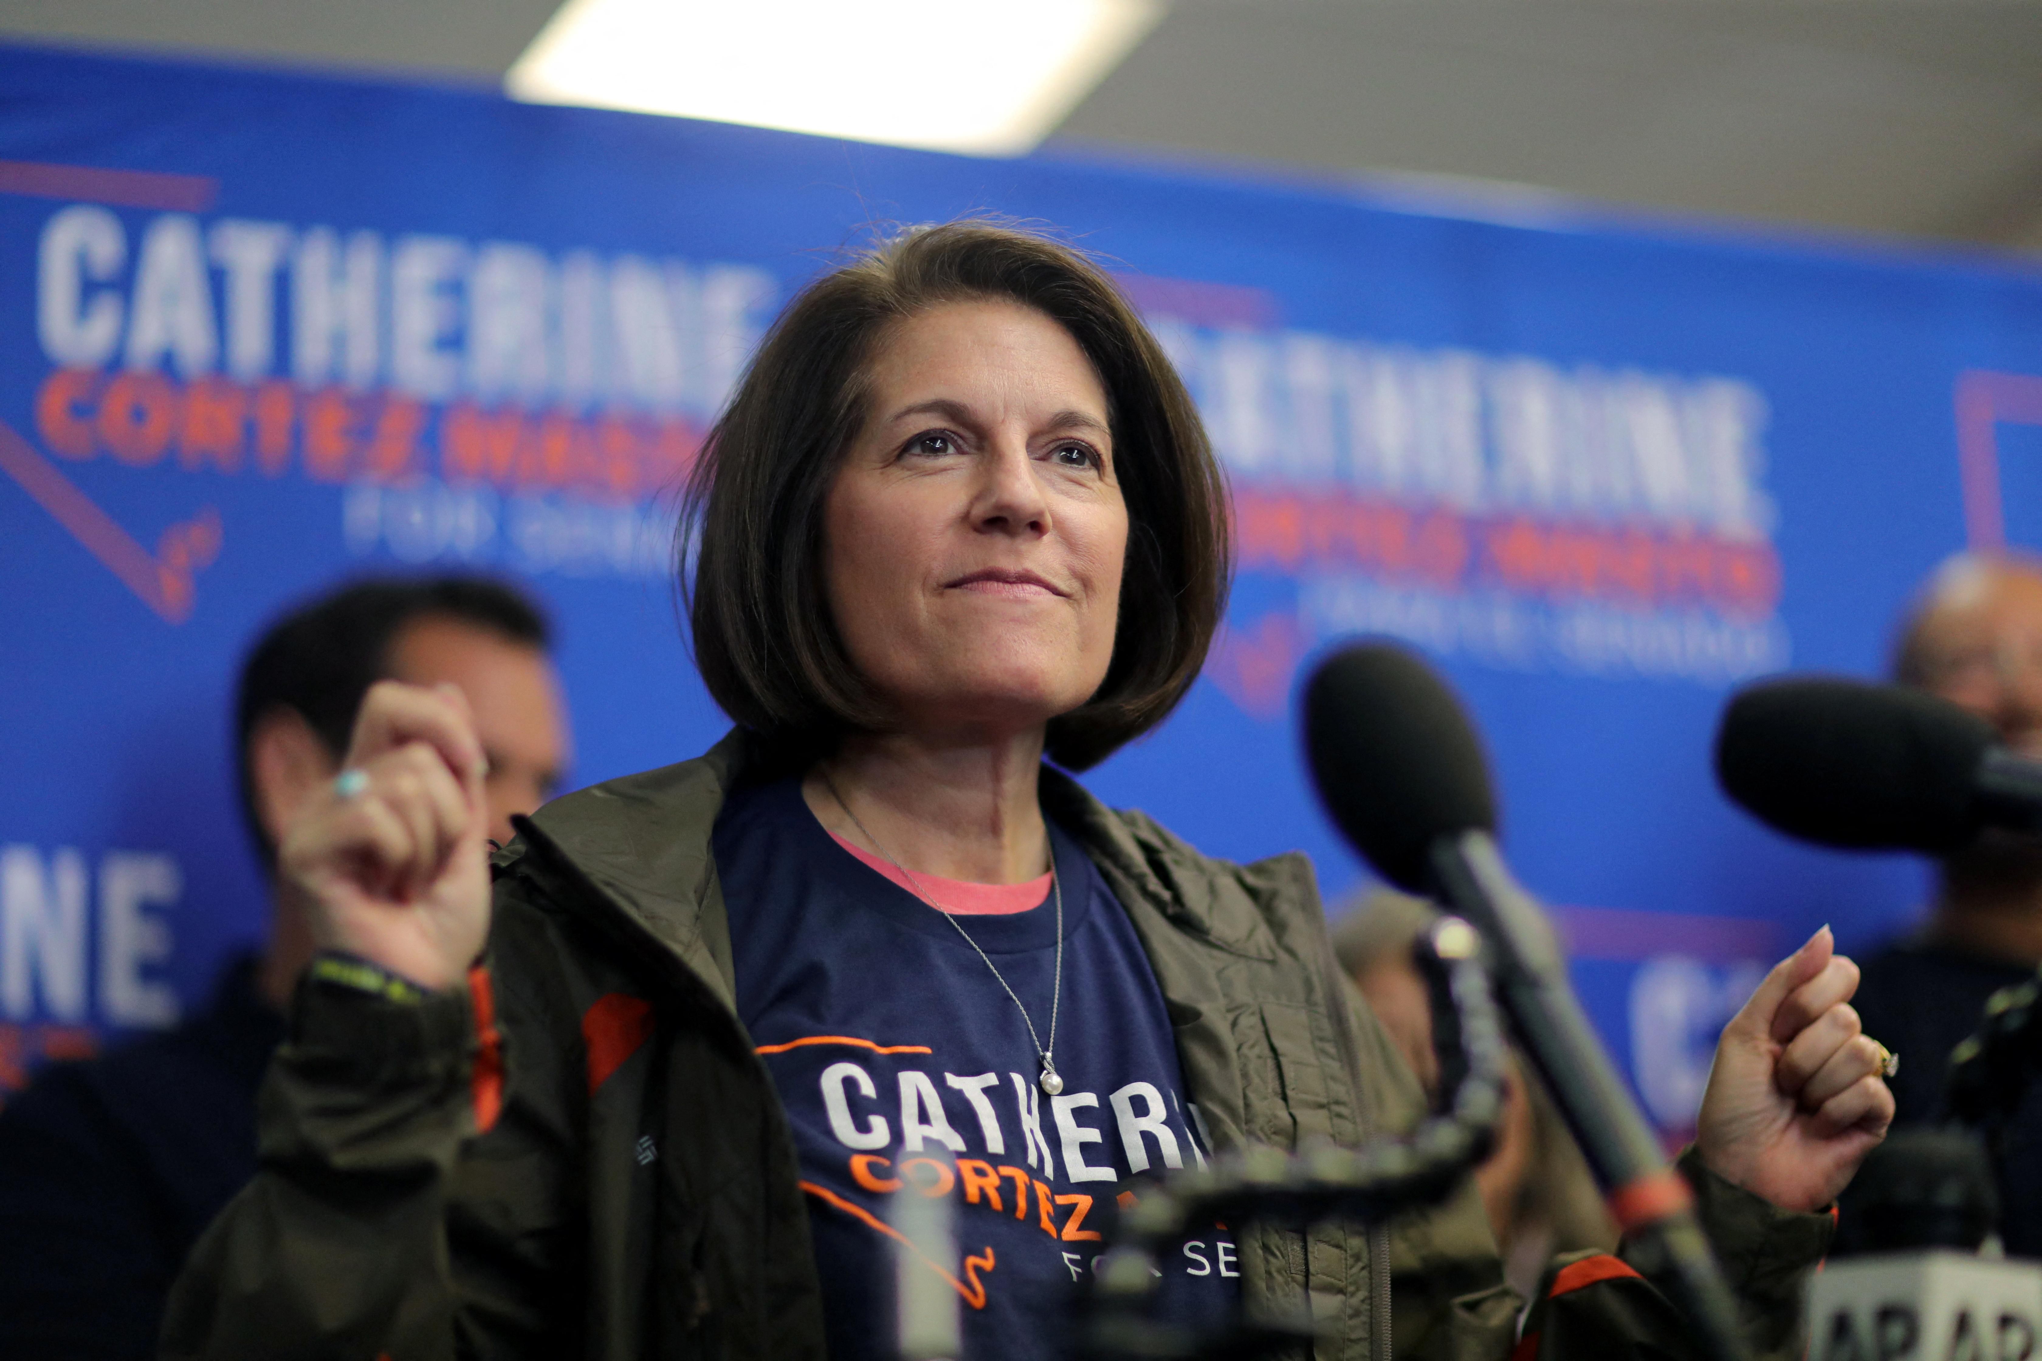
[{"label": "woman's raised hand with gold ring, beside the microphones at right", "polygon": [[1783,1210],[1836,1200],[1887,1137],[1885,1053],[1858,1024],[1858,965],[1830,928],[1783,959],[1715,1047],[1695,1147],[1719,1177]]}]

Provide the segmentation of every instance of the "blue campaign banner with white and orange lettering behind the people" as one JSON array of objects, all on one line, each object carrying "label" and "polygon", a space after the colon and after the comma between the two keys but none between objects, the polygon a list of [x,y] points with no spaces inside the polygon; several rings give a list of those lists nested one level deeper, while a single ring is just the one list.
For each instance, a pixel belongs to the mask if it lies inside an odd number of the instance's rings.
[{"label": "blue campaign banner with white and orange lettering behind the people", "polygon": [[306,592],[527,582],[578,784],[715,741],[674,480],[807,278],[972,212],[1107,259],[1233,484],[1225,637],[1101,796],[1217,855],[1301,847],[1338,898],[1362,871],[1295,684],[1340,637],[1411,641],[1668,1130],[1754,969],[1907,920],[1917,865],[1760,830],[1709,737],[1752,675],[1875,673],[1950,551],[2042,541],[2034,273],[0,49],[0,1083],[172,1024],[259,935],[227,710]]}]

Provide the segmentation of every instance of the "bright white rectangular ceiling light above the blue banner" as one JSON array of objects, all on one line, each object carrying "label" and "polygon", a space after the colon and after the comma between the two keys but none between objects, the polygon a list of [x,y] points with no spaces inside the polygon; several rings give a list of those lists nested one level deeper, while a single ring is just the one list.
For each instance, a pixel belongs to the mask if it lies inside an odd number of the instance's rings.
[{"label": "bright white rectangular ceiling light above the blue banner", "polygon": [[504,90],[537,104],[1021,155],[1162,10],[1162,0],[568,0]]}]

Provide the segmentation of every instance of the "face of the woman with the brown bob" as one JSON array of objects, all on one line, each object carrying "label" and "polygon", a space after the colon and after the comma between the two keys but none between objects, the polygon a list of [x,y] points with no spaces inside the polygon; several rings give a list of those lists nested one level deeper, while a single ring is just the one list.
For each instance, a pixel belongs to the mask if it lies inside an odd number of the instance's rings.
[{"label": "face of the woman with the brown bob", "polygon": [[852,663],[907,728],[1041,724],[1107,675],[1127,551],[1107,394],[1058,322],[896,322],[823,512]]}]

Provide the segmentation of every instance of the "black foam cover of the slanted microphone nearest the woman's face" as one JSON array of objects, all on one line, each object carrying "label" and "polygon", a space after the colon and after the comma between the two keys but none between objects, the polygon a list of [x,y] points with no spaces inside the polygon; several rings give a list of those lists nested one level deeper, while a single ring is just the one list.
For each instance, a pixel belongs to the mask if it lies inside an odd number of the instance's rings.
[{"label": "black foam cover of the slanted microphone nearest the woman's face", "polygon": [[1497,828],[1474,724],[1403,647],[1356,643],[1319,663],[1305,684],[1305,753],[1333,822],[1399,888],[1427,892],[1440,837]]}]

